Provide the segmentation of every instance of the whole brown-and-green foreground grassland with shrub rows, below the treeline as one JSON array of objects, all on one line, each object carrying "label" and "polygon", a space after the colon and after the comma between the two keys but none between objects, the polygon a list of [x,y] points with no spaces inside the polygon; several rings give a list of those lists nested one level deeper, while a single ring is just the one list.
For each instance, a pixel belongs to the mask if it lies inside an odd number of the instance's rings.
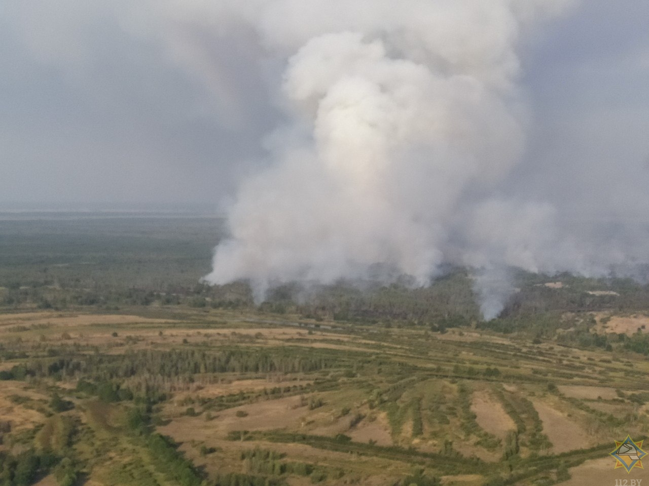
[{"label": "whole brown-and-green foreground grassland with shrub rows, below the treeline", "polygon": [[561,484],[586,485],[618,478],[607,457],[616,438],[649,432],[633,401],[647,364],[633,354],[602,360],[470,330],[156,312],[0,315],[0,371],[23,373],[0,381],[10,423],[0,450],[58,437],[52,421],[65,416],[74,432],[47,441],[69,441],[86,486],[180,481],[137,427],[169,437],[173,460],[217,485],[236,473],[253,486],[393,486],[415,471],[424,486],[496,485],[509,473],[517,479],[502,484],[537,486],[561,467],[572,474]]}]

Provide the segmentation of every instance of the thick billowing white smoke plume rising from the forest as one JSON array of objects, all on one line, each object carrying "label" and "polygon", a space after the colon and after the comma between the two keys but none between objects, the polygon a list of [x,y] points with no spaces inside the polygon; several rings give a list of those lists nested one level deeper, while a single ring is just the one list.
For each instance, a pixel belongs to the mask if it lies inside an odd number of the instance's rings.
[{"label": "thick billowing white smoke plume rising from the forest", "polygon": [[511,291],[508,266],[593,273],[593,260],[623,261],[610,248],[592,259],[598,249],[568,237],[550,203],[497,195],[525,143],[517,48],[535,23],[568,6],[223,0],[183,8],[189,17],[212,8],[219,29],[251,29],[267,58],[284,62],[278,103],[291,120],[269,137],[271,167],[241,185],[230,238],[206,281],[250,279],[263,291],[364,277],[380,263],[426,284],[451,262],[482,269],[477,294],[493,318]]}]

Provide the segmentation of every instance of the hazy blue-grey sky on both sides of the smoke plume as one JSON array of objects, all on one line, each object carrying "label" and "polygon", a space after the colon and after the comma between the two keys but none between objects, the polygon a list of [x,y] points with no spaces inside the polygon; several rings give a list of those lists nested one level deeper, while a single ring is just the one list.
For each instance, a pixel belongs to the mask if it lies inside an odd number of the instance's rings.
[{"label": "hazy blue-grey sky on both sides of the smoke plume", "polygon": [[[265,164],[282,56],[247,27],[138,5],[0,3],[0,202],[219,203]],[[527,38],[533,123],[508,196],[649,210],[648,25],[646,0],[584,0]],[[575,185],[591,187],[572,201]]]}]

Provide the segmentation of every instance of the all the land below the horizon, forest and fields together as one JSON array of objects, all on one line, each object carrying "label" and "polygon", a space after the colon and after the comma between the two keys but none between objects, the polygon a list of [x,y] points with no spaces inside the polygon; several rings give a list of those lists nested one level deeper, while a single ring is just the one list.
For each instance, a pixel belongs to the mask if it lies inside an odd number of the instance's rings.
[{"label": "all the land below the horizon, forest and fields together", "polygon": [[215,219],[1,223],[1,485],[644,477],[608,456],[649,433],[642,286],[526,275],[489,322],[462,272],[256,303],[198,284]]}]

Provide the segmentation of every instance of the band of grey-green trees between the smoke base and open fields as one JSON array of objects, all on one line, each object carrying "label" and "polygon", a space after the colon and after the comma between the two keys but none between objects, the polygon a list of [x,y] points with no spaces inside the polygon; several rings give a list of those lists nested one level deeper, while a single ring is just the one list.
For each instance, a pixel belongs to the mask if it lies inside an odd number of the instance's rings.
[{"label": "band of grey-green trees between the smoke base and open fields", "polygon": [[[90,283],[82,275],[84,266],[77,266],[80,276],[68,281],[56,279],[56,272],[51,268],[43,272],[42,279],[29,281],[3,281],[0,272],[0,307],[64,309],[92,306],[116,310],[121,306],[155,303],[262,310],[365,324],[435,325],[438,329],[471,325],[482,320],[471,272],[461,268],[449,270],[447,275],[426,287],[412,286],[405,278],[388,285],[339,282],[304,288],[297,283],[284,284],[271,288],[265,301],[256,304],[245,282],[221,286],[188,284],[184,273],[173,272],[168,273],[164,281],[158,277],[149,280],[141,275],[150,270],[149,266],[143,266],[137,276],[130,275],[130,267],[128,271],[118,267],[121,270],[113,269],[111,273],[121,272],[122,278],[113,275],[106,281],[95,278]],[[87,271],[95,272],[91,266]],[[545,285],[553,281],[561,282],[562,286]],[[500,318],[519,319],[548,312],[649,310],[649,286],[630,279],[587,279],[567,274],[550,277],[518,272],[513,284],[519,291],[509,297]]]}]

